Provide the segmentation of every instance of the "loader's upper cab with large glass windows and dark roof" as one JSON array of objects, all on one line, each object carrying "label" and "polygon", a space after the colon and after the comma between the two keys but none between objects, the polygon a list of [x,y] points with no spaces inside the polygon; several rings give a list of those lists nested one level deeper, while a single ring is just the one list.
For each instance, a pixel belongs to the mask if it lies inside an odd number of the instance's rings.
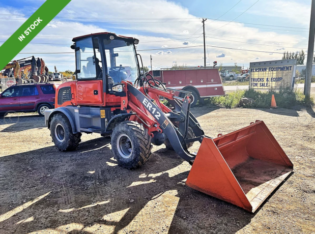
[{"label": "loader's upper cab with large glass windows and dark roof", "polygon": [[112,94],[112,87],[123,80],[132,83],[140,68],[135,44],[138,40],[113,33],[97,33],[74,38],[77,81],[103,80],[103,92]]}]

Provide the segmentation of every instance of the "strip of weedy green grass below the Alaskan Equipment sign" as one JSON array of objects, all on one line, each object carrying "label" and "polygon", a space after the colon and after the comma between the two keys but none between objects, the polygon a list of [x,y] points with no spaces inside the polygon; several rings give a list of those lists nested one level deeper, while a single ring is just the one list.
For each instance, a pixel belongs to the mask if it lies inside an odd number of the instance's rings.
[{"label": "strip of weedy green grass below the Alaskan Equipment sign", "polygon": [[207,104],[215,104],[225,108],[238,107],[242,98],[251,98],[254,103],[246,105],[244,107],[257,107],[257,108],[269,108],[271,104],[271,97],[275,96],[278,107],[292,108],[294,106],[306,106],[310,107],[314,105],[313,98],[306,99],[305,95],[300,90],[280,89],[278,91],[235,91],[231,92],[225,97],[213,97],[206,100]]}]

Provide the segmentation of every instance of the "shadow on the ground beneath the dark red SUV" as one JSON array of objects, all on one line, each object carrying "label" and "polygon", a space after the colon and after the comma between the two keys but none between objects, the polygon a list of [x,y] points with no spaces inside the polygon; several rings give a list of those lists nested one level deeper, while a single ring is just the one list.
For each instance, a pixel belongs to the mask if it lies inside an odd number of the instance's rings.
[{"label": "shadow on the ground beneath the dark red SUV", "polygon": [[9,127],[2,129],[0,132],[20,132],[35,128],[44,128],[45,120],[38,115],[23,115],[23,116],[9,116],[0,120],[1,125],[10,125]]}]

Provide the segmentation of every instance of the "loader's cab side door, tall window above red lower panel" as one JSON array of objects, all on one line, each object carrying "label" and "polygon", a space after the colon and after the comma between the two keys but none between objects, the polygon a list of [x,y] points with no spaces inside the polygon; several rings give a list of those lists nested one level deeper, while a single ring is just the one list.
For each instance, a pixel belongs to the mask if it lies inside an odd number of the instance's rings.
[{"label": "loader's cab side door, tall window above red lower panel", "polygon": [[76,97],[80,105],[103,104],[103,72],[99,51],[97,38],[89,37],[76,42]]}]

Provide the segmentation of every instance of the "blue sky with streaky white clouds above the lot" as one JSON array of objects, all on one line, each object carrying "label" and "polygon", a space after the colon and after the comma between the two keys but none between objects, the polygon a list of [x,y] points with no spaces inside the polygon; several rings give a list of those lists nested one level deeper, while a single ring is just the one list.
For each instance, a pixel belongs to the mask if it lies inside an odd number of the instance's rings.
[{"label": "blue sky with streaky white clouds above the lot", "polygon": [[[0,45],[45,1],[0,0]],[[311,0],[72,0],[14,59],[41,57],[49,71],[75,70],[74,37],[112,32],[139,40],[144,65],[249,67],[280,60],[284,51],[307,50]],[[180,48],[177,48],[180,47]],[[306,62],[306,60],[305,60]]]}]

